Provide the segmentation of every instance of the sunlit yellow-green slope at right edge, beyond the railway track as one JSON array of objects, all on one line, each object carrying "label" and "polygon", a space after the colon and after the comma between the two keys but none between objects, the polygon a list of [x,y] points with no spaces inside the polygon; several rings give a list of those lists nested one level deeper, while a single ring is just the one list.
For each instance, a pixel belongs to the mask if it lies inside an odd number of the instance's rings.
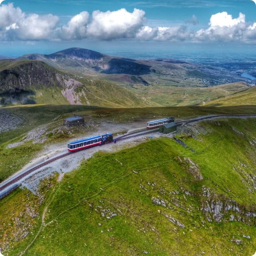
[{"label": "sunlit yellow-green slope at right edge, beyond the railway track", "polygon": [[208,106],[256,105],[256,87],[248,88],[234,95],[207,102]]}]

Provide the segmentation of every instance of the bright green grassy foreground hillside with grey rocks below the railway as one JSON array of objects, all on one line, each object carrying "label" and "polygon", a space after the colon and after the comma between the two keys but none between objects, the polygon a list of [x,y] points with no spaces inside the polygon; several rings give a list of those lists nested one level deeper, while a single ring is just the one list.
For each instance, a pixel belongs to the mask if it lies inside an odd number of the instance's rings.
[{"label": "bright green grassy foreground hillside with grey rocks below the railway", "polygon": [[[51,182],[39,209],[38,198],[21,190],[0,201],[1,222],[13,227],[0,237],[3,253],[28,246],[23,255],[252,255],[255,119],[207,121],[196,130],[177,135],[187,148],[161,138],[99,152]],[[38,215],[17,241],[11,230],[23,228],[20,210],[3,213],[21,196]]]}]

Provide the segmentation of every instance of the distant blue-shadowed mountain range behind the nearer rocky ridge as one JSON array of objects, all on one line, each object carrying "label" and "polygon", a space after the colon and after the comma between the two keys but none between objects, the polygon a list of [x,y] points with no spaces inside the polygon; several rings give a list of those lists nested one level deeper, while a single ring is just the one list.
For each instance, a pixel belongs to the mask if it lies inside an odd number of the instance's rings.
[{"label": "distant blue-shadowed mountain range behind the nearer rocky ridge", "polygon": [[28,54],[17,60],[41,60],[48,65],[80,74],[97,75],[118,84],[154,84],[209,86],[243,81],[236,72],[174,59],[134,60],[103,53],[69,48],[49,55]]}]

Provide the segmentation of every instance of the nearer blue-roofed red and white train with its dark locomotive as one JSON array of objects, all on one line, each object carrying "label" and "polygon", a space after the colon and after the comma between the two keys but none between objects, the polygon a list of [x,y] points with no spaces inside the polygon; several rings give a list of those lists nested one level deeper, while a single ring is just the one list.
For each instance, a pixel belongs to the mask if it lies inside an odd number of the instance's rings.
[{"label": "nearer blue-roofed red and white train with its dark locomotive", "polygon": [[106,133],[103,135],[97,135],[81,140],[76,140],[68,143],[68,151],[73,152],[96,145],[102,145],[113,141],[113,133]]}]

